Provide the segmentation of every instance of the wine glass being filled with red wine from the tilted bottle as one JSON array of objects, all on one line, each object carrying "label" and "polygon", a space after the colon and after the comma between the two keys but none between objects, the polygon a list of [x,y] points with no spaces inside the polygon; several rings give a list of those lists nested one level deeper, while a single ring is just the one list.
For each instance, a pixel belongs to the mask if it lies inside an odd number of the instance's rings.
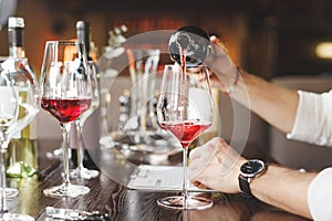
[{"label": "wine glass being filled with red wine from the tilted bottle", "polygon": [[189,197],[187,192],[188,146],[207,130],[214,119],[214,101],[206,66],[183,69],[180,65],[165,65],[162,88],[157,104],[160,126],[170,131],[183,146],[183,196],[166,197],[157,203],[168,209],[203,210],[212,201],[203,197]]}]

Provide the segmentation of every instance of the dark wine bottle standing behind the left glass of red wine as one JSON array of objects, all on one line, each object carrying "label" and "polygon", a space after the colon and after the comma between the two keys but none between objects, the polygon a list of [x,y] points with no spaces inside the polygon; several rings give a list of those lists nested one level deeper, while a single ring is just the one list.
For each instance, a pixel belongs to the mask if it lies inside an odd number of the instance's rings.
[{"label": "dark wine bottle standing behind the left glass of red wine", "polygon": [[[91,55],[91,25],[89,21],[77,21],[76,22],[76,38],[77,41],[84,43],[85,53],[87,56],[87,62],[94,64],[94,61]],[[100,108],[93,110],[93,113],[87,117],[84,126],[83,126],[83,166],[87,168],[96,168],[94,160],[97,157],[97,150],[100,146]],[[72,162],[75,167],[77,167],[77,129],[75,123],[72,124],[71,128],[71,150],[72,150]]]}]

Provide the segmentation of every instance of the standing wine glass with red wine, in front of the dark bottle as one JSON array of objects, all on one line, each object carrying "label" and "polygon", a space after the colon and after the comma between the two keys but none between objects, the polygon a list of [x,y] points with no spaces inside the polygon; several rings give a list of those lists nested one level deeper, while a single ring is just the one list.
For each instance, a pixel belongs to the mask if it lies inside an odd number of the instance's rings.
[{"label": "standing wine glass with red wine, in front of the dark bottle", "polygon": [[91,106],[91,80],[86,72],[84,44],[77,41],[48,41],[41,71],[41,107],[54,116],[63,136],[62,185],[43,190],[48,197],[79,197],[90,189],[70,182],[69,135],[71,123]]}]

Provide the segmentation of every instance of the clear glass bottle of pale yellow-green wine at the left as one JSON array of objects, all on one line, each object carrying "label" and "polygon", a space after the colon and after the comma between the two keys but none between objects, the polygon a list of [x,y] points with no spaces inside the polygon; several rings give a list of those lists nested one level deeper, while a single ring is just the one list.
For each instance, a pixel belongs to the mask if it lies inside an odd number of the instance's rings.
[{"label": "clear glass bottle of pale yellow-green wine at the left", "polygon": [[[20,63],[20,71],[29,74],[30,78],[37,81],[35,74],[29,65],[24,51],[24,19],[10,17],[8,20],[9,59]],[[21,61],[20,61],[21,60]],[[29,97],[27,91],[21,88],[19,96],[22,102]],[[20,107],[19,118],[24,116],[24,108]],[[9,145],[8,149],[8,177],[21,178],[31,177],[38,170],[38,141],[37,141],[37,118],[18,133]]]}]

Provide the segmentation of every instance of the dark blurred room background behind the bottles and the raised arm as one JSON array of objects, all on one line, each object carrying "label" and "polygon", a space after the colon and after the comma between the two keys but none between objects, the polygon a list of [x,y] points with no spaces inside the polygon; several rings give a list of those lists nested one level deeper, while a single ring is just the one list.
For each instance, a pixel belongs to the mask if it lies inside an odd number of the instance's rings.
[{"label": "dark blurred room background behind the bottles and the raised arm", "polygon": [[[3,2],[10,2],[12,10],[4,8]],[[123,34],[131,38],[194,24],[224,39],[235,63],[247,71],[282,86],[312,92],[332,88],[331,11],[329,0],[0,0],[0,18],[10,13],[25,20],[25,55],[37,76],[45,41],[74,39],[77,20],[91,22],[96,57],[103,54],[110,31],[116,27],[125,24],[127,32]],[[7,20],[1,24],[0,56],[6,56]],[[157,46],[167,43],[165,39],[153,42]],[[121,74],[129,75],[127,71]],[[123,88],[114,91],[122,93]],[[220,98],[222,137],[230,139],[232,119],[241,116],[232,116],[234,104],[226,103],[226,98],[229,97]],[[112,118],[117,119],[118,108],[112,108]],[[250,147],[245,150],[248,156],[263,149],[277,161],[297,168],[320,169],[331,165],[331,148],[287,140],[284,134],[270,128],[255,114],[246,146]]]}]

